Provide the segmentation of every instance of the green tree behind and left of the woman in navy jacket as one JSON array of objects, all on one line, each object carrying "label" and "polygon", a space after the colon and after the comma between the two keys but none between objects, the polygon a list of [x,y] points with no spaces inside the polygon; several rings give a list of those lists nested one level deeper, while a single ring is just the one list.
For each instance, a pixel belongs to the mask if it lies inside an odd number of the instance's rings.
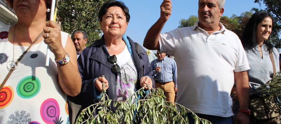
[{"label": "green tree behind and left of the woman in navy jacket", "polygon": [[106,0],[58,0],[57,19],[61,30],[72,35],[82,30],[88,34],[86,46],[101,38],[98,12]]}]

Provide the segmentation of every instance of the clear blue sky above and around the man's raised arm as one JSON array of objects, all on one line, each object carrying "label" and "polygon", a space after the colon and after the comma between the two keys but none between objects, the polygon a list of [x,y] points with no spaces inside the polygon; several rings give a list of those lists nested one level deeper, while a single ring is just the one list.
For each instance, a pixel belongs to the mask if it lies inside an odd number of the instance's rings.
[{"label": "clear blue sky above and around the man's raised arm", "polygon": [[[160,5],[163,0],[121,0],[129,8],[131,19],[126,30],[126,35],[134,42],[143,44],[148,29],[160,17]],[[161,33],[168,32],[178,27],[181,19],[188,19],[190,15],[198,15],[198,0],[172,0],[172,15],[166,22]],[[250,11],[253,7],[259,7],[254,0],[226,0],[224,13],[230,17],[232,14],[240,15],[242,12]]]}]

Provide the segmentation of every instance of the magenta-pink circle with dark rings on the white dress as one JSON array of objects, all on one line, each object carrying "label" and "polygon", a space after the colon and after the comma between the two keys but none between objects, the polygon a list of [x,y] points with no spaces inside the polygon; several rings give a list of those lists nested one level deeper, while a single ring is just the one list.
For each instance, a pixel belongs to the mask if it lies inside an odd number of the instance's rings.
[{"label": "magenta-pink circle with dark rings on the white dress", "polygon": [[59,118],[60,107],[55,99],[45,100],[40,108],[40,114],[44,122],[53,123],[53,120],[56,120],[56,117]]}]

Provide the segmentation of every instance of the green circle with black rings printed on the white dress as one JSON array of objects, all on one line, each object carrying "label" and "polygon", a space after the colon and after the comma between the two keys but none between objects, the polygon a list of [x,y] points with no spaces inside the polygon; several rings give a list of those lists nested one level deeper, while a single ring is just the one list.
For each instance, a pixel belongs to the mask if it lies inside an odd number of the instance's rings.
[{"label": "green circle with black rings printed on the white dress", "polygon": [[17,84],[17,94],[25,99],[32,98],[40,91],[40,81],[35,76],[27,76]]}]

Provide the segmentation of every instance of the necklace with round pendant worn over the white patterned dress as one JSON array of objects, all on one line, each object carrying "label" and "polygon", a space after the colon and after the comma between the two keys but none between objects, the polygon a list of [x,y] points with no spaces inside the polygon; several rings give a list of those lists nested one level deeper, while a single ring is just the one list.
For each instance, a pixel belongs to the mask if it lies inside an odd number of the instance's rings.
[{"label": "necklace with round pendant worn over the white patterned dress", "polygon": [[32,44],[22,53],[22,55],[17,59],[15,60],[15,30],[16,30],[16,25],[15,24],[15,28],[14,28],[14,39],[13,39],[13,60],[12,61],[9,61],[7,63],[7,69],[9,71],[13,71],[15,69],[17,69],[17,63],[22,60],[22,57],[29,51],[29,49],[34,45],[34,43],[36,43],[42,36],[42,34],[44,33],[44,30],[37,36],[37,38],[34,39],[34,41],[32,42]]}]

